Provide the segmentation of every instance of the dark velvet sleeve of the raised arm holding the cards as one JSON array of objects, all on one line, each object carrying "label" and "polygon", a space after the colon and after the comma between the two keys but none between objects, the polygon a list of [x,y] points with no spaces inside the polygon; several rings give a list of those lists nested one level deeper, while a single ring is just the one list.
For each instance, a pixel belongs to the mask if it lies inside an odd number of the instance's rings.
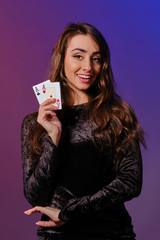
[{"label": "dark velvet sleeve of the raised arm holding the cards", "polygon": [[50,183],[56,168],[57,154],[57,147],[50,137],[46,136],[43,139],[44,150],[42,155],[39,159],[32,159],[32,161],[36,160],[36,165],[31,164],[29,126],[34,128],[36,124],[35,116],[28,115],[23,120],[21,130],[24,195],[33,206],[46,204]]}]

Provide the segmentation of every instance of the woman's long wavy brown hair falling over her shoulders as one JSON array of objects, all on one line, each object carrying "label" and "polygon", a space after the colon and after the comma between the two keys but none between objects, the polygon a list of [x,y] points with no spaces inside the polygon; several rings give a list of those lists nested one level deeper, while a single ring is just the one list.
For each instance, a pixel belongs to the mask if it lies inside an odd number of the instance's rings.
[{"label": "woman's long wavy brown hair falling over her shoulders", "polygon": [[[95,136],[98,137],[101,142],[101,149],[107,142],[116,166],[124,156],[127,146],[135,147],[137,141],[140,141],[144,147],[146,147],[146,144],[144,131],[133,109],[115,92],[115,83],[110,65],[110,51],[102,34],[90,24],[69,24],[53,49],[49,79],[51,82],[60,82],[62,104],[63,106],[68,105],[68,96],[71,89],[67,84],[64,72],[64,58],[69,40],[77,34],[90,35],[100,48],[101,73],[88,89],[91,100],[86,107],[89,118],[97,125],[97,128],[93,131],[93,141]],[[35,130],[32,131],[33,155],[41,155],[43,151],[41,140],[45,134],[45,129],[37,124]],[[126,147],[124,148],[124,146]]]}]

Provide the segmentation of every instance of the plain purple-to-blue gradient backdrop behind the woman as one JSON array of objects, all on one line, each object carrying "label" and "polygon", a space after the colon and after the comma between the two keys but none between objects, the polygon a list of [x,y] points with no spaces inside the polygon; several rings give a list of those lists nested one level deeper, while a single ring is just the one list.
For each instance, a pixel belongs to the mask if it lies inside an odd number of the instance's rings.
[{"label": "plain purple-to-blue gradient backdrop behind the woman", "polygon": [[1,239],[36,239],[39,214],[28,217],[23,196],[20,128],[37,111],[32,85],[47,79],[51,51],[69,22],[88,22],[105,36],[117,91],[147,133],[142,148],[144,181],[128,202],[137,240],[158,240],[160,223],[159,90],[160,3],[141,0],[1,0]]}]

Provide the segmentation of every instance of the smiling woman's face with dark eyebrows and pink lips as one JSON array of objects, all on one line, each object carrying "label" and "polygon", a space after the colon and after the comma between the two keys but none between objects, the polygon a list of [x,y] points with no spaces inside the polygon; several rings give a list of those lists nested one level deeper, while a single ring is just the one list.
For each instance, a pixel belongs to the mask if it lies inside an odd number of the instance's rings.
[{"label": "smiling woman's face with dark eyebrows and pink lips", "polygon": [[90,35],[73,36],[65,53],[64,71],[75,93],[86,91],[101,71],[100,48]]}]

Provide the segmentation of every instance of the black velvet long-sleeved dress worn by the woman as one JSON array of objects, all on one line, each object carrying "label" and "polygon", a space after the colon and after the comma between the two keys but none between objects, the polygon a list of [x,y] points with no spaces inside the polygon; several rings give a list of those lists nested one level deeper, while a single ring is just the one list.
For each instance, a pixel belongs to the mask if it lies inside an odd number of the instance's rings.
[{"label": "black velvet long-sleeved dress worn by the woman", "polygon": [[[135,239],[124,202],[141,191],[139,145],[126,150],[114,171],[107,144],[100,150],[92,141],[96,126],[88,119],[85,104],[81,104],[64,111],[58,148],[45,136],[41,157],[31,163],[29,129],[35,128],[36,118],[36,114],[30,114],[22,124],[24,194],[32,206],[60,209],[59,218],[65,222],[57,228],[39,227],[38,239]],[[48,217],[42,215],[42,219]]]}]

